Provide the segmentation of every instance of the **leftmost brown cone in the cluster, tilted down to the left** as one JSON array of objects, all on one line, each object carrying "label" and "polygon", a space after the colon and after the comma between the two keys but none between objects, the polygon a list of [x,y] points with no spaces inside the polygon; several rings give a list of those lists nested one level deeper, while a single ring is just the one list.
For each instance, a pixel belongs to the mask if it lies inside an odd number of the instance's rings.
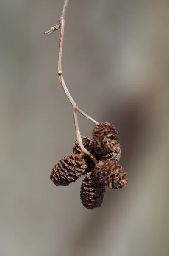
[{"label": "leftmost brown cone in the cluster, tilted down to the left", "polygon": [[63,157],[51,170],[50,179],[56,186],[68,186],[75,182],[87,168],[83,154]]}]

